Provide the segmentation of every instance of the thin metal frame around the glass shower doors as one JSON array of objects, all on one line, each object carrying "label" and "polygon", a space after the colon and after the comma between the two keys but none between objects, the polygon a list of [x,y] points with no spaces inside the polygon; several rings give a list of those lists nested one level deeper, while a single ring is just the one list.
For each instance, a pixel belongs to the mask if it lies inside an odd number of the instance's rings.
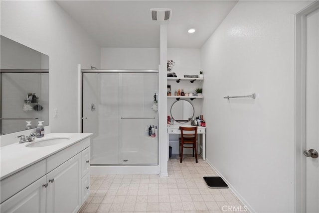
[{"label": "thin metal frame around the glass shower doors", "polygon": [[[83,117],[83,75],[85,73],[123,73],[123,74],[130,74],[130,73],[141,73],[141,74],[151,74],[151,73],[159,73],[159,70],[99,70],[99,69],[91,69],[91,70],[87,70],[87,69],[81,69],[81,132],[83,133],[83,121],[84,121],[84,117]],[[159,76],[158,76],[159,77]],[[159,88],[158,88],[159,90]],[[157,116],[158,116],[158,126],[159,126],[159,111],[157,111]],[[160,145],[159,145],[159,137],[157,137],[158,139],[158,163],[155,164],[94,164],[91,166],[159,166],[160,165]],[[123,141],[121,141],[123,142]]]}]

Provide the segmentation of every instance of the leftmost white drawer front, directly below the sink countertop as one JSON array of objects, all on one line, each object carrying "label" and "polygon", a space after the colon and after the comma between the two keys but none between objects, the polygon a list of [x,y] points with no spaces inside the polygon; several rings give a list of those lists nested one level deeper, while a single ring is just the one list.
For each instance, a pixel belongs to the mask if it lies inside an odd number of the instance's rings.
[{"label": "leftmost white drawer front, directly below the sink countertop", "polygon": [[45,175],[45,160],[41,160],[1,180],[1,203]]}]

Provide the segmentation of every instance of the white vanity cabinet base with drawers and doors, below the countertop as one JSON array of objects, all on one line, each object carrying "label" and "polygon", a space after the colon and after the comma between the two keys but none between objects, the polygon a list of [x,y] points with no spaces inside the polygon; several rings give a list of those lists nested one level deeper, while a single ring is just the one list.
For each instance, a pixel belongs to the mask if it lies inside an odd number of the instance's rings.
[{"label": "white vanity cabinet base with drawers and doors, below the countertop", "polygon": [[89,195],[89,159],[90,137],[1,180],[1,213],[77,213]]}]

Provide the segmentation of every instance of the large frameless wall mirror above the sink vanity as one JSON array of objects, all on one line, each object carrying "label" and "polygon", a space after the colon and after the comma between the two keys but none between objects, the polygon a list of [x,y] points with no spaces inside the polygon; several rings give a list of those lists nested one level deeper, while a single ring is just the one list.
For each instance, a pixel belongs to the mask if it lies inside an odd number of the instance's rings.
[{"label": "large frameless wall mirror above the sink vanity", "polygon": [[0,133],[49,125],[49,56],[1,35]]}]

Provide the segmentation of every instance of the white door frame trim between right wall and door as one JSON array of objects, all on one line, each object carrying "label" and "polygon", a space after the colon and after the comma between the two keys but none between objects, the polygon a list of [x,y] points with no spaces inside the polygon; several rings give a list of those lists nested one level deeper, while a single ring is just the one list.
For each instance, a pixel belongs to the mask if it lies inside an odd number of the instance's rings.
[{"label": "white door frame trim between right wall and door", "polygon": [[306,212],[306,16],[319,8],[312,2],[295,14],[295,212]]}]

